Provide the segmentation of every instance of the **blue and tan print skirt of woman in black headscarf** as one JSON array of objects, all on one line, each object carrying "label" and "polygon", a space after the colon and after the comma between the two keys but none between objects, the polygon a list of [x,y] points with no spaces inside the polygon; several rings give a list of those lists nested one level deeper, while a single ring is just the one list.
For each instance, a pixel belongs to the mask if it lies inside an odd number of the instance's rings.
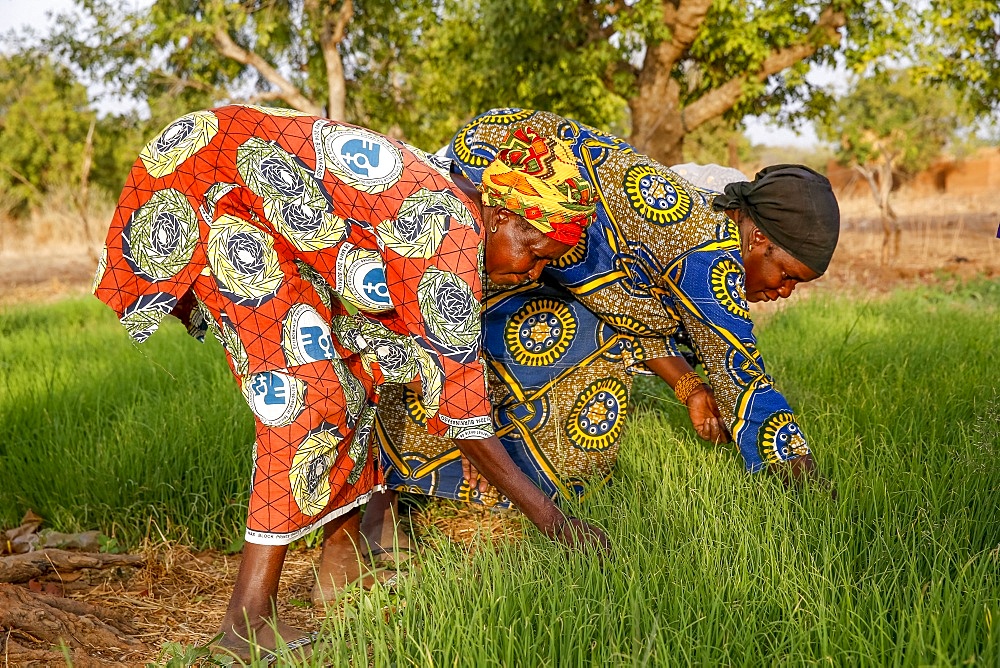
[{"label": "blue and tan print skirt of woman in black headscarf", "polygon": [[[496,435],[514,463],[552,497],[583,495],[608,477],[628,410],[632,376],[622,374],[631,337],[622,336],[554,284],[491,290],[484,355]],[[530,350],[528,349],[530,347]],[[544,362],[540,363],[540,362]],[[509,500],[469,487],[454,443],[427,434],[424,397],[383,388],[376,439],[386,484],[489,506]]]}]

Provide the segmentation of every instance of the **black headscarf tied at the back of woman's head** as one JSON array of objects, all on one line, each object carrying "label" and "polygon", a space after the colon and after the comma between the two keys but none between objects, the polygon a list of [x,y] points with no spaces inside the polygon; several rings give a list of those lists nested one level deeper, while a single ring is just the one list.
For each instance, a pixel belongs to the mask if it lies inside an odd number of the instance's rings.
[{"label": "black headscarf tied at the back of woman's head", "polygon": [[837,248],[837,198],[830,181],[805,165],[771,165],[752,182],[730,183],[712,207],[746,212],[764,236],[818,274]]}]

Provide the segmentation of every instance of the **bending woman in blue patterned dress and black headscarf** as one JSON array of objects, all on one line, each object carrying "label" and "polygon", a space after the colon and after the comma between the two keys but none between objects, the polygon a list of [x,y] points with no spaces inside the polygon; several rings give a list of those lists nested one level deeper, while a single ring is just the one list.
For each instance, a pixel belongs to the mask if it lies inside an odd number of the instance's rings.
[{"label": "bending woman in blue patterned dress and black headscarf", "polygon": [[[493,417],[518,465],[552,496],[606,480],[641,373],[674,388],[700,436],[734,440],[749,471],[788,480],[813,471],[795,415],[764,369],[747,302],[786,298],[826,270],[840,222],[829,181],[777,165],[724,193],[704,190],[621,139],[520,109],[487,112],[458,132],[447,149],[453,170],[477,182],[513,128],[568,142],[600,195],[597,222],[540,283],[491,286],[484,350]],[[463,471],[447,442],[419,434],[418,393],[400,388],[382,408],[376,433],[390,488],[508,503]],[[382,509],[370,511],[367,535],[378,543]]]}]

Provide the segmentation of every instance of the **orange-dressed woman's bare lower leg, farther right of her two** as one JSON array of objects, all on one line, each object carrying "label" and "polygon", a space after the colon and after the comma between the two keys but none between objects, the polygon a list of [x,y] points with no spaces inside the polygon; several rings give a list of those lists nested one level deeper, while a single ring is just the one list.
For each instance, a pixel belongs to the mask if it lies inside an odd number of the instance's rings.
[{"label": "orange-dressed woman's bare lower leg, farther right of her two", "polygon": [[323,554],[312,591],[314,605],[334,599],[338,590],[359,580],[367,589],[383,579],[362,563],[361,552],[361,513],[357,508],[323,527]]}]

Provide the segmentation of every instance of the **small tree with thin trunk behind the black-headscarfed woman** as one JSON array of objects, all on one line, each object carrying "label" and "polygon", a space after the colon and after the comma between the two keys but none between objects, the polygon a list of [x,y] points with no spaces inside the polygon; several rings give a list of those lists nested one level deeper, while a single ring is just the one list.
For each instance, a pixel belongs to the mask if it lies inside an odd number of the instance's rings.
[{"label": "small tree with thin trunk behind the black-headscarfed woman", "polygon": [[890,203],[894,176],[927,167],[970,118],[953,89],[928,85],[914,69],[856,80],[821,118],[820,135],[837,145],[838,160],[865,178],[879,204],[883,260],[898,234]]}]

